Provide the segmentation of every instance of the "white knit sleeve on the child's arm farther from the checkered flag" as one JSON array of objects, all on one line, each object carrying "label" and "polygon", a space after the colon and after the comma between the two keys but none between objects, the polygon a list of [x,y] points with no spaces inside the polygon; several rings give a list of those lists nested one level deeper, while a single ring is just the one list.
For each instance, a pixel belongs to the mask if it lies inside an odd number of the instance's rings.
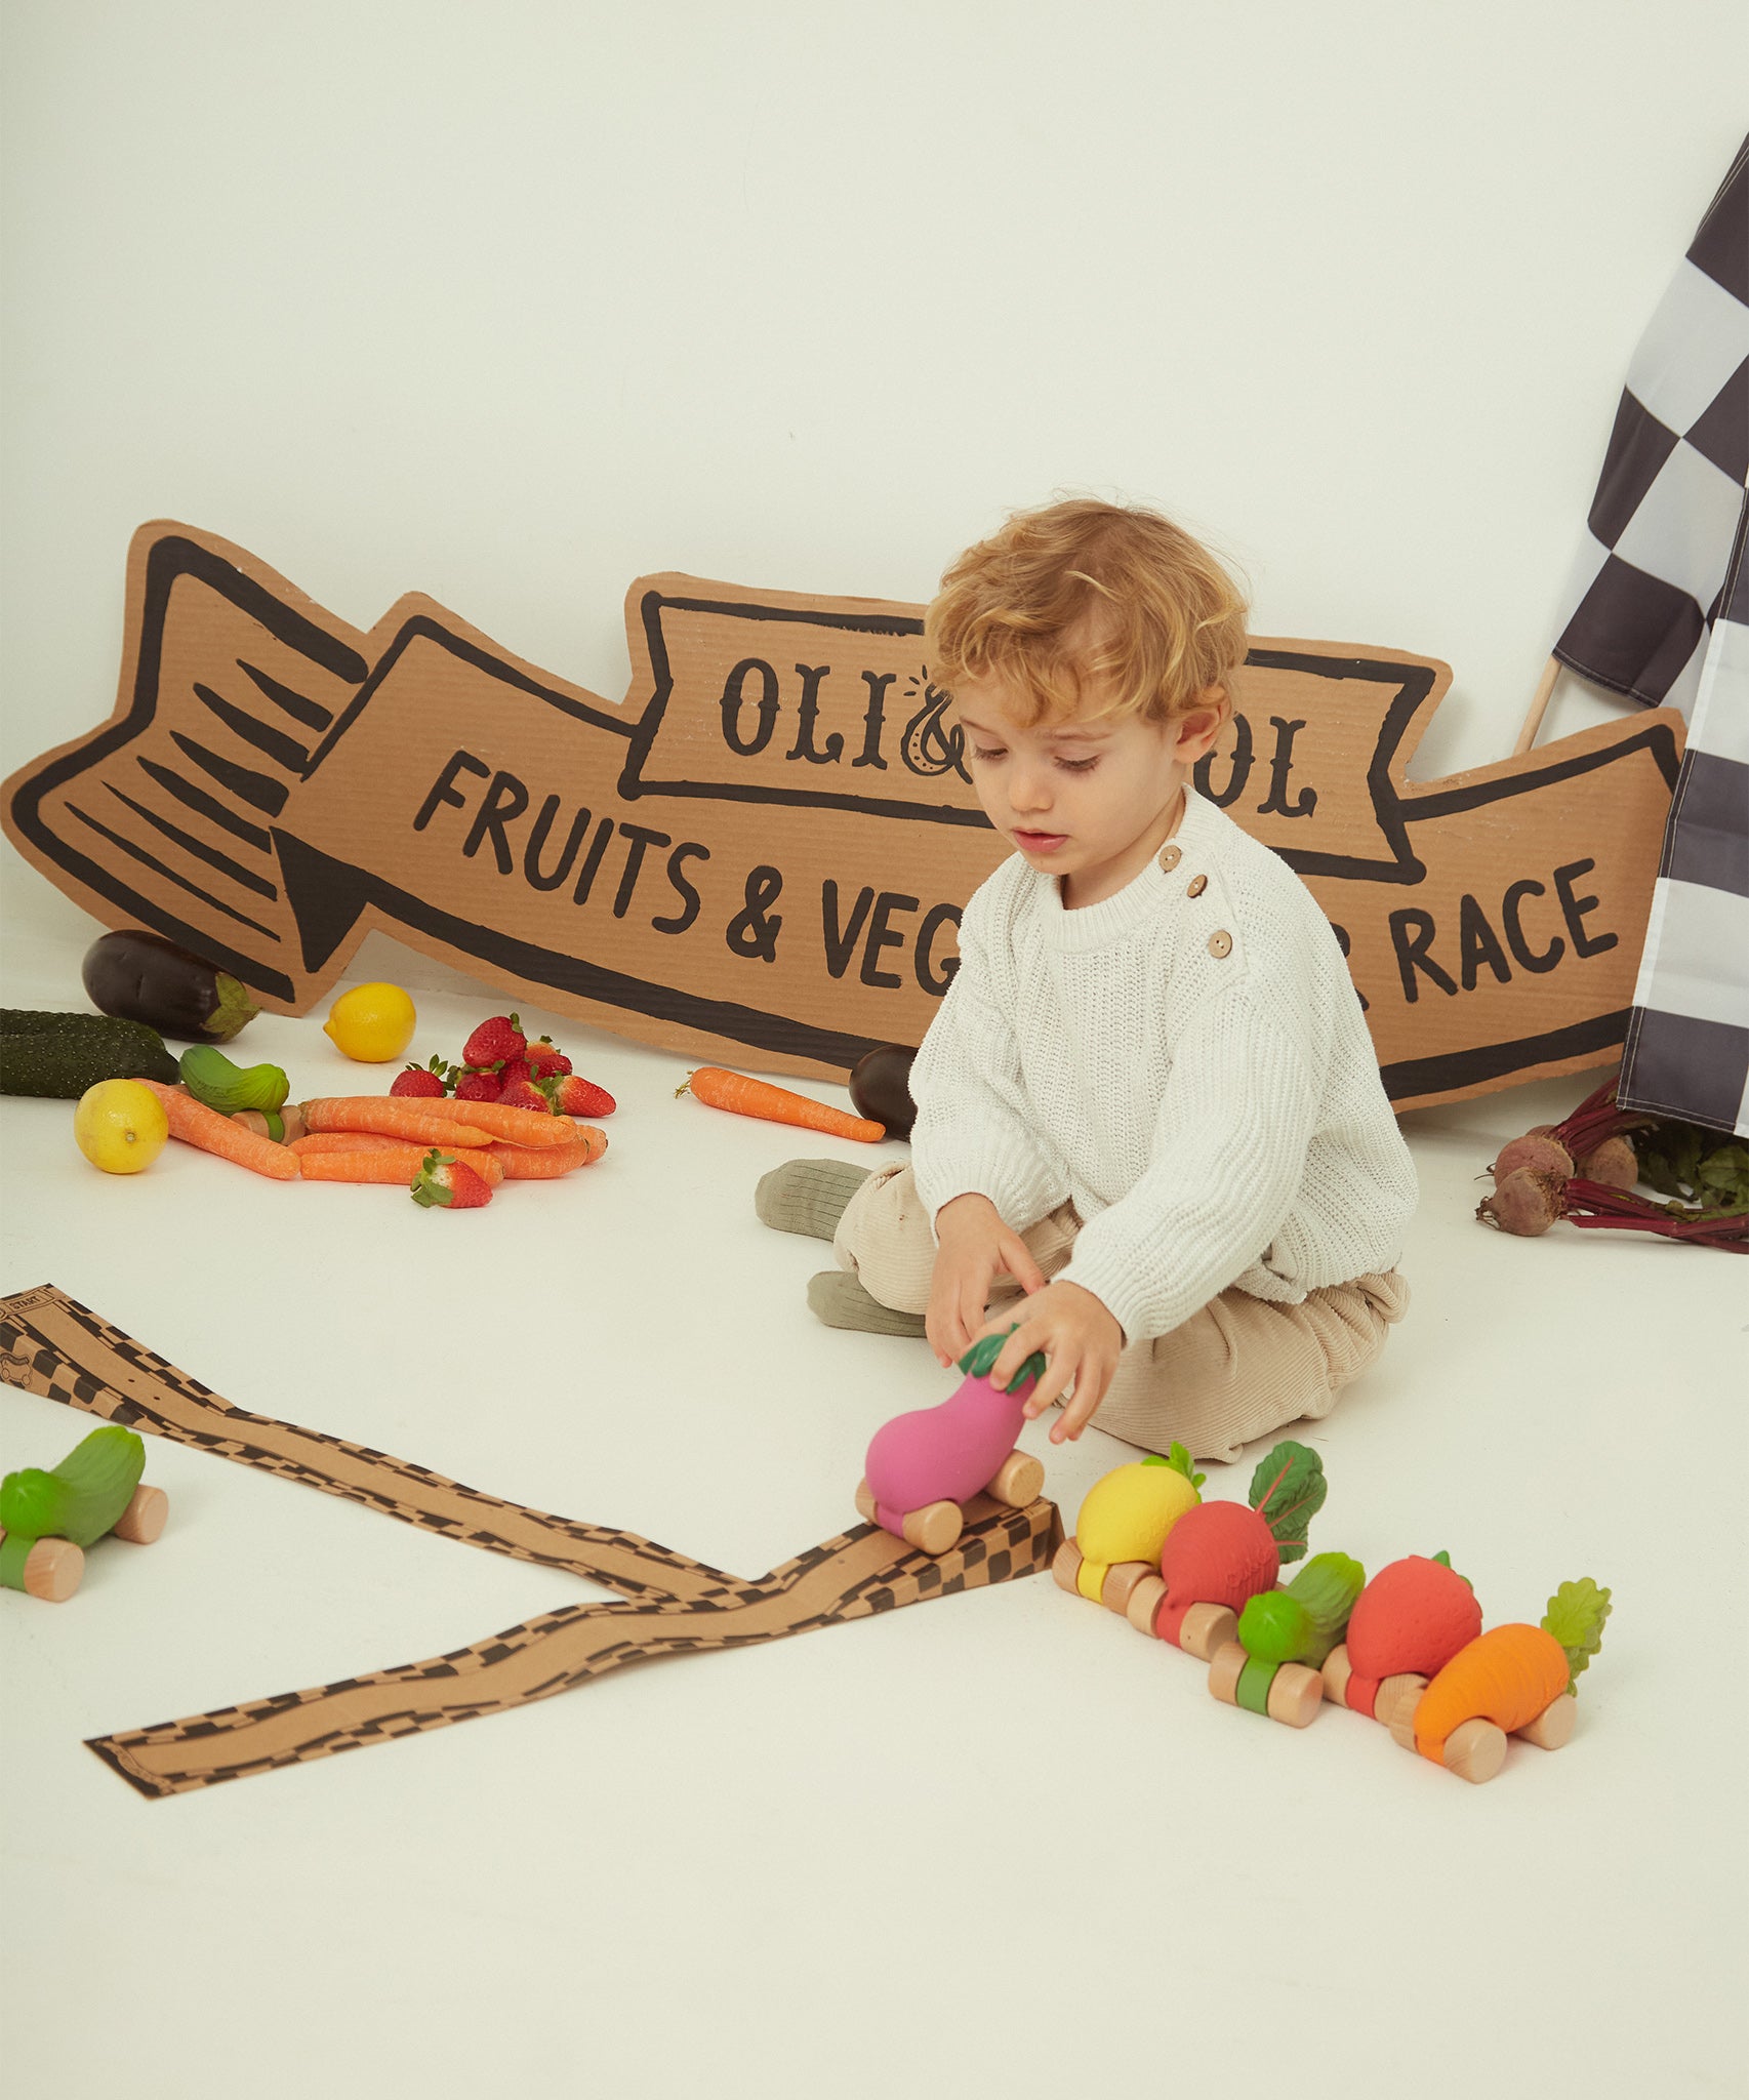
[{"label": "white knit sleeve on the child's arm farther from the checkered flag", "polygon": [[955,1195],[987,1195],[1016,1233],[1069,1199],[1067,1166],[1033,1134],[976,901],[960,926],[960,968],[911,1065],[911,1172],[930,1226]]}]

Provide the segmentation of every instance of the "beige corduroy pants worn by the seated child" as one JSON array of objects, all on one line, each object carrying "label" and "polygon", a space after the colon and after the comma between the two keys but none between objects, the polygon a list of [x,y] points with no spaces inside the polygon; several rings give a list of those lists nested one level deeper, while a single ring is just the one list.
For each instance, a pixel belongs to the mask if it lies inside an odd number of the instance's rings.
[{"label": "beige corduroy pants worn by the seated child", "polygon": [[[1073,1203],[1060,1203],[1020,1239],[1054,1277],[1079,1231]],[[907,1166],[869,1174],[838,1220],[831,1252],[894,1312],[928,1308],[934,1235]],[[1012,1277],[997,1279],[991,1317],[1020,1296]],[[1149,1451],[1176,1441],[1193,1457],[1232,1460],[1258,1436],[1327,1415],[1407,1308],[1409,1285],[1394,1268],[1312,1292],[1295,1306],[1226,1289],[1172,1334],[1123,1350],[1094,1424]]]}]

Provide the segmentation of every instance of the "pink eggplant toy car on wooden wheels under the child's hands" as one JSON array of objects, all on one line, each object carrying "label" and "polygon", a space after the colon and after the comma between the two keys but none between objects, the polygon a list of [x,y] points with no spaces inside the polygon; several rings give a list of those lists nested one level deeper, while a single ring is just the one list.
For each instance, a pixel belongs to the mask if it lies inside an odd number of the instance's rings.
[{"label": "pink eggplant toy car on wooden wheels under the child's hands", "polygon": [[[1016,1321],[1018,1325],[1018,1321]],[[964,1529],[964,1504],[991,1495],[1025,1510],[1044,1487],[1044,1464],[1014,1449],[1027,1394],[1044,1373],[1033,1352],[999,1390],[989,1369],[1014,1334],[987,1334],[960,1359],[966,1382],[941,1403],[894,1415],[873,1432],[857,1508],[871,1522],[926,1554],[951,1552]]]}]

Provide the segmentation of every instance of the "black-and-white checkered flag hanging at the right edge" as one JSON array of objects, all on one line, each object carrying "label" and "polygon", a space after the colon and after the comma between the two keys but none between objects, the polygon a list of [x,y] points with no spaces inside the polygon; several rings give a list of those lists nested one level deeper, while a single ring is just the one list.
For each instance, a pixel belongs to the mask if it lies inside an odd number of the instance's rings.
[{"label": "black-and-white checkered flag hanging at the right edge", "polygon": [[1627,372],[1554,655],[1688,716],[1619,1098],[1749,1136],[1749,141]]}]

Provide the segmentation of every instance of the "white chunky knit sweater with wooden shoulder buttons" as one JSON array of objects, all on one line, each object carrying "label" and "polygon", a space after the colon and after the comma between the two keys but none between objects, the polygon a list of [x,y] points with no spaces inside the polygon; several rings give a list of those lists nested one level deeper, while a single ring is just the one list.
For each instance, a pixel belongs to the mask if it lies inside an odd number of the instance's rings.
[{"label": "white chunky knit sweater with wooden shoulder buttons", "polygon": [[1329,920],[1188,788],[1172,844],[1102,903],[1065,911],[1018,853],[995,869],[911,1094],[930,1218],[981,1191],[1025,1231],[1073,1201],[1062,1275],[1125,1342],[1232,1283],[1298,1304],[1390,1268],[1415,1208]]}]

